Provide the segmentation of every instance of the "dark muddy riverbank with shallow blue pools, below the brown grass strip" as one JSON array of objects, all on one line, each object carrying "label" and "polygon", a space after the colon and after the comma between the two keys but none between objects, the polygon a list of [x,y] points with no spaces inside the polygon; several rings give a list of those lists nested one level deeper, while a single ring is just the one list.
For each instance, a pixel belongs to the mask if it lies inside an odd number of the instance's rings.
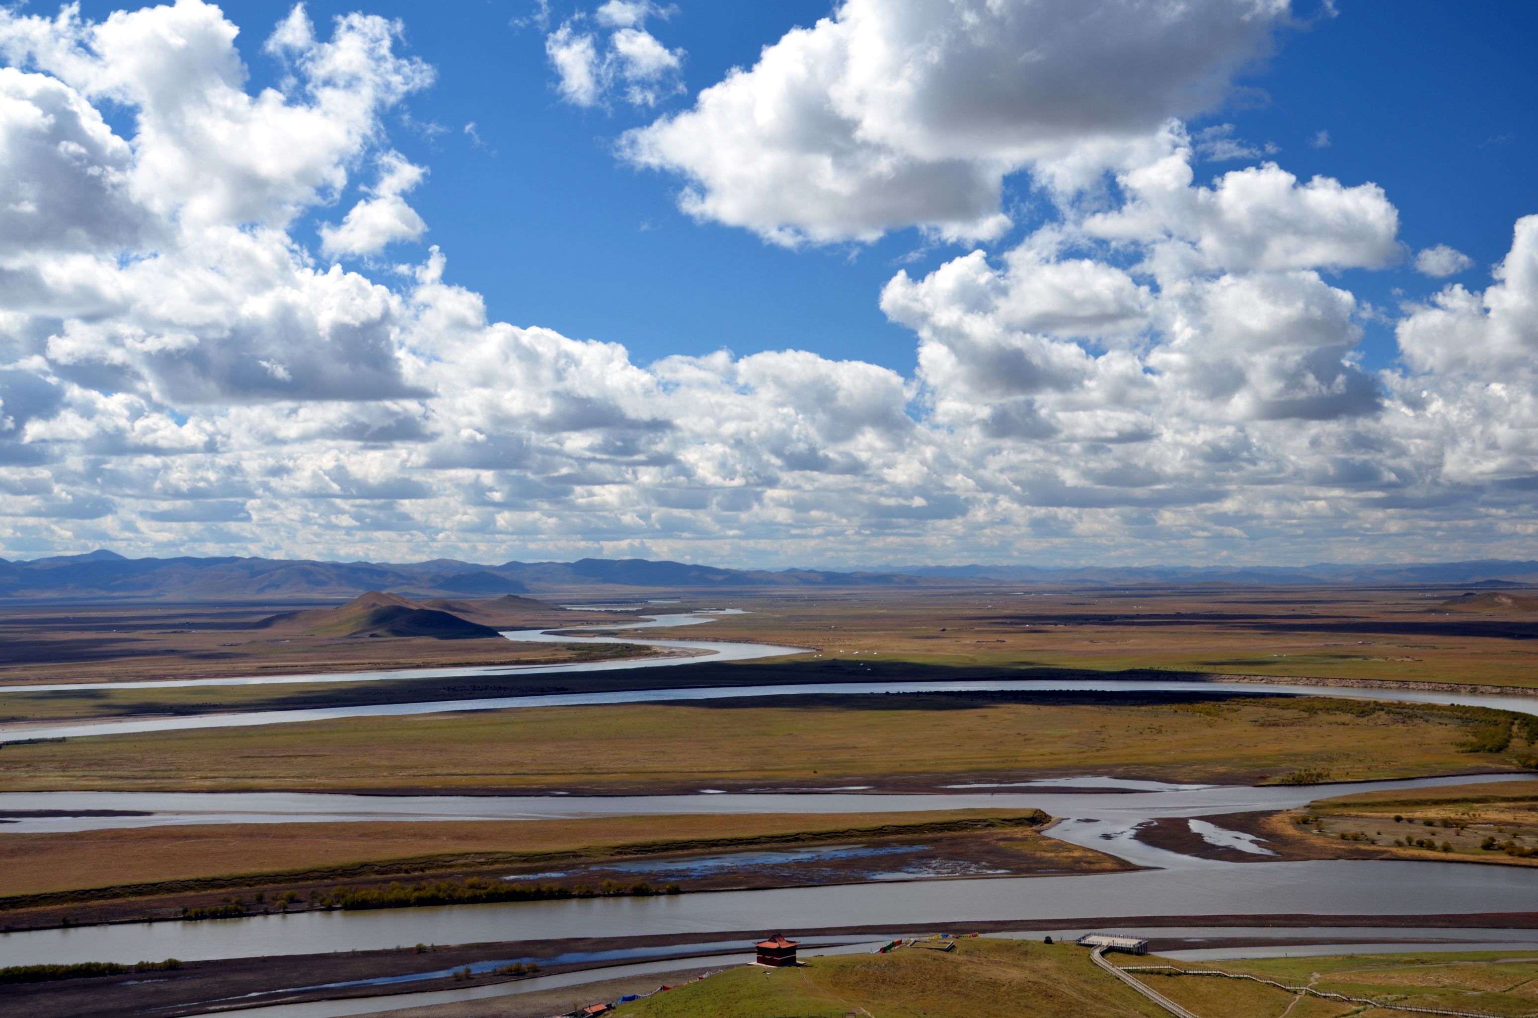
[{"label": "dark muddy riverbank with shallow blue pools, below the brown grass strip", "polygon": [[[483,881],[494,890],[508,889],[511,884],[541,889],[560,887],[569,893],[546,897],[584,898],[624,897],[631,893],[628,889],[635,884],[647,886],[646,892],[638,893],[660,893],[669,884],[675,887],[681,884],[680,893],[692,893],[837,886],[869,883],[880,878],[1063,877],[1141,869],[1114,855],[1041,837],[1055,823],[1055,818],[1040,809],[994,810],[994,815],[986,817],[906,824],[884,823],[758,837],[609,844],[586,850],[492,852],[457,858],[417,857],[298,872],[280,870],[38,892],[0,898],[0,924],[3,924],[5,932],[23,932],[146,921],[180,923],[188,921],[181,918],[185,909],[229,909],[237,904],[237,900],[238,909],[231,909],[229,918],[275,913],[303,915],[332,910],[332,898],[338,897],[343,889],[369,892],[388,884],[412,887],[438,881],[451,881],[458,886],[466,886],[466,881]],[[272,826],[258,829],[271,830]],[[217,830],[223,833],[228,827]],[[189,829],[165,827],[152,829],[151,833],[186,838]],[[754,853],[767,855],[769,864],[758,864],[752,860]],[[809,858],[797,860],[797,853]],[[714,864],[717,861],[721,863]],[[701,863],[711,864],[701,866]],[[914,872],[910,875],[894,872],[894,867],[904,866],[914,867]],[[557,872],[551,872],[552,869]],[[678,877],[680,872],[689,875]],[[289,893],[294,897],[285,903],[283,898]],[[475,903],[474,900],[464,901],[464,904]]]}]

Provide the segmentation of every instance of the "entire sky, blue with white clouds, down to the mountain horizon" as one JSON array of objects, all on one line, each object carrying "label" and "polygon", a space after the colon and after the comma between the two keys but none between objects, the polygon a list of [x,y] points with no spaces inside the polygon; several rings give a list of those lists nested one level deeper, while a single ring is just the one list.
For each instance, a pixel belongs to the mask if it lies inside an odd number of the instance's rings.
[{"label": "entire sky, blue with white clouds, down to the mountain horizon", "polygon": [[1532,5],[969,6],[17,8],[0,554],[1530,557]]}]

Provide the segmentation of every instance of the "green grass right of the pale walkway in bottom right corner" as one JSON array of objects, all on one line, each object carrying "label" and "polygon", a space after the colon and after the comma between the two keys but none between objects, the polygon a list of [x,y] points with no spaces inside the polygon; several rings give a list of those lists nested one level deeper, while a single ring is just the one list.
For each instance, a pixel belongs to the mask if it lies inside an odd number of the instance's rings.
[{"label": "green grass right of the pale walkway in bottom right corner", "polygon": [[[1432,1010],[1515,1016],[1538,1010],[1538,956],[1527,955],[1530,952],[1335,955],[1175,964],[1186,970],[1247,973],[1284,986],[1307,986],[1387,1004],[1364,1009],[1361,1004],[1304,996],[1287,1012],[1289,1018],[1390,1018],[1406,1013],[1392,1007],[1395,1003]],[[1123,967],[1158,964],[1157,958],[1109,958]],[[1241,980],[1158,973],[1137,976],[1203,1018],[1273,1018],[1297,1000],[1286,990]]]}]

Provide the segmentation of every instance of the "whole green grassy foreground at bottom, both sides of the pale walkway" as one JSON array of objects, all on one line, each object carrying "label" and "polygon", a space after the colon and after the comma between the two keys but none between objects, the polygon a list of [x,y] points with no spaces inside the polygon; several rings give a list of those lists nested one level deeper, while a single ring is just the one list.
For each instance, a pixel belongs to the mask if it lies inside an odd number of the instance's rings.
[{"label": "whole green grassy foreground at bottom, both sides of the pale walkway", "polygon": [[[1118,967],[1158,958],[1107,955]],[[797,969],[747,966],[623,1004],[617,1018],[1115,1018],[1166,1015],[1097,969],[1089,950],[1003,938],[963,938],[954,952],[898,949],[887,955],[804,956]],[[1201,1018],[1389,1018],[1392,1004],[1529,1015],[1538,1010],[1538,956],[1496,952],[1335,955],[1224,963],[1177,963],[1287,987],[1364,998],[1383,1007],[1300,996],[1250,980],[1135,973]]]}]

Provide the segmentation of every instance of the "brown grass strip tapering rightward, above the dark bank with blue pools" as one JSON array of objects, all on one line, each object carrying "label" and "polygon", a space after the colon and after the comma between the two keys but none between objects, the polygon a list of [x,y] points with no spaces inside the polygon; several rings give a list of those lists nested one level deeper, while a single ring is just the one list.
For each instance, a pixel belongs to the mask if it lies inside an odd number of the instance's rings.
[{"label": "brown grass strip tapering rightward, above the dark bank with blue pools", "polygon": [[1012,852],[1050,860],[1049,866],[1055,869],[1120,869],[1115,860],[1098,852],[1035,833],[1032,826],[1043,820],[1044,815],[1037,810],[957,809],[849,815],[195,824],[0,833],[0,900],[125,886],[140,887],[135,893],[157,893],[149,889],[151,884],[172,881],[188,883],[180,890],[189,890],[220,887],[228,881],[258,886],[486,867],[518,872],[517,867],[526,866],[678,852],[1003,829],[1009,830]]}]

